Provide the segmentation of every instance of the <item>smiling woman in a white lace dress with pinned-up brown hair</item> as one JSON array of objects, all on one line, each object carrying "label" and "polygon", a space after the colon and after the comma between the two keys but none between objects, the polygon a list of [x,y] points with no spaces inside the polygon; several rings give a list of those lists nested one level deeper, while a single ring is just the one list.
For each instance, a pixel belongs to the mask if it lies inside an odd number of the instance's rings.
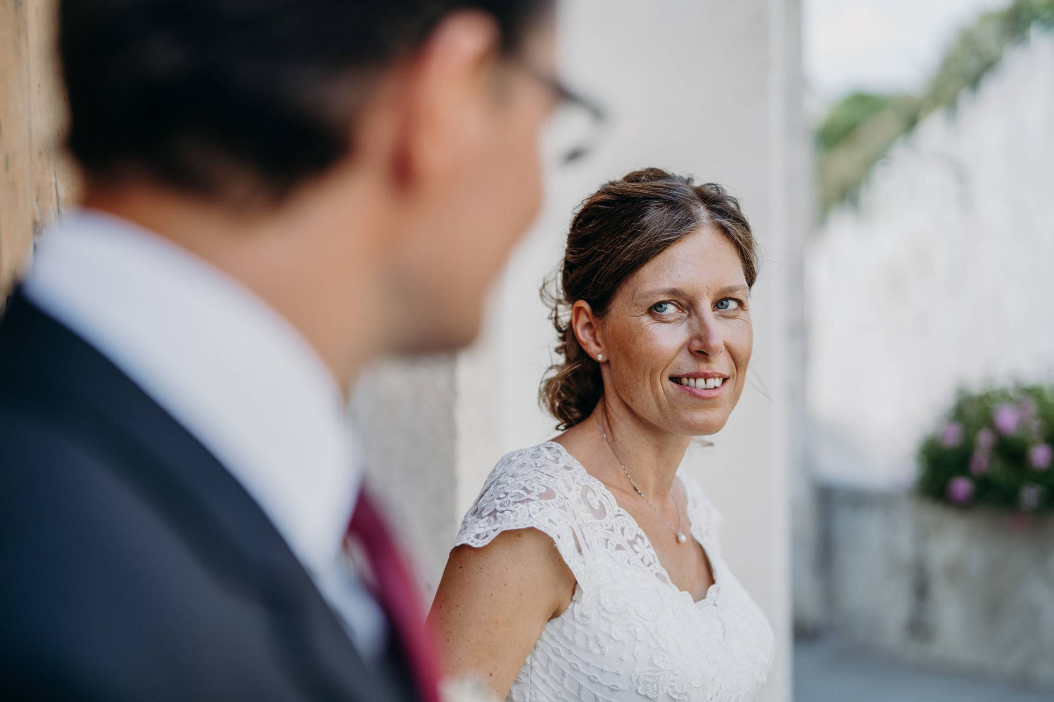
[{"label": "smiling woman in a white lace dress with pinned-up brown hair", "polygon": [[742,393],[756,278],[719,185],[647,168],[582,204],[542,385],[566,430],[502,458],[462,523],[432,609],[449,673],[512,702],[755,699],[773,633],[678,468]]}]

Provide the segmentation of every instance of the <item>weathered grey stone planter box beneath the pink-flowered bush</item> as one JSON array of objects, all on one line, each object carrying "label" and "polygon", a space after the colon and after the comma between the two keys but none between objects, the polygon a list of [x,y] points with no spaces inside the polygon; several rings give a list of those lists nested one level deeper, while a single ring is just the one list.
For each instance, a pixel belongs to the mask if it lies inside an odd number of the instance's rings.
[{"label": "weathered grey stone planter box beneath the pink-flowered bush", "polygon": [[823,486],[827,625],[894,656],[1054,687],[1054,518]]}]

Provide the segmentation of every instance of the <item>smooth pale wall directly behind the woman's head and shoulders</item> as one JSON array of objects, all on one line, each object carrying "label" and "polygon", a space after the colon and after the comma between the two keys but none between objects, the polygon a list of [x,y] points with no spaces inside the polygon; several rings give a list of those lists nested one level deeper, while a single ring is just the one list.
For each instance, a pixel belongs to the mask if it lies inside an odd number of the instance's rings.
[{"label": "smooth pale wall directly behind the woman's head and shoulders", "polygon": [[[564,76],[611,113],[599,152],[548,176],[545,209],[494,289],[479,342],[453,361],[380,364],[355,402],[375,479],[406,516],[403,533],[433,591],[456,522],[497,458],[555,434],[538,405],[554,340],[538,290],[560,260],[572,209],[603,181],[645,165],[726,185],[764,247],[754,364],[716,445],[687,460],[724,513],[730,566],[776,630],[763,702],[789,699],[787,500],[803,416],[807,201],[799,24],[798,0],[564,2]],[[452,460],[440,436],[451,423]]]}]

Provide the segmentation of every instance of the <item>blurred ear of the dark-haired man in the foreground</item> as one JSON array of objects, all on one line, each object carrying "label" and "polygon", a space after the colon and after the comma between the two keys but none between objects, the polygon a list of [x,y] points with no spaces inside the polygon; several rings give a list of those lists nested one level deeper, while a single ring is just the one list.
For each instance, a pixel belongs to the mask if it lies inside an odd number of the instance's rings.
[{"label": "blurred ear of the dark-haired man in the foreground", "polygon": [[405,185],[446,179],[482,133],[501,29],[484,13],[445,17],[410,60],[396,173]]}]

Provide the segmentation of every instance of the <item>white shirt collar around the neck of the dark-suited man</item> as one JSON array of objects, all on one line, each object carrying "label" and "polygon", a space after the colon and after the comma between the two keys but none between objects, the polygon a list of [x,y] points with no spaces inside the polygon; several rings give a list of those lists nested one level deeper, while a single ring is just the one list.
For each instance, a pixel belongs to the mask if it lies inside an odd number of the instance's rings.
[{"label": "white shirt collar around the neck of the dark-suited man", "polygon": [[23,289],[187,427],[327,577],[362,472],[338,385],[291,324],[172,242],[93,212],[41,237]]}]

